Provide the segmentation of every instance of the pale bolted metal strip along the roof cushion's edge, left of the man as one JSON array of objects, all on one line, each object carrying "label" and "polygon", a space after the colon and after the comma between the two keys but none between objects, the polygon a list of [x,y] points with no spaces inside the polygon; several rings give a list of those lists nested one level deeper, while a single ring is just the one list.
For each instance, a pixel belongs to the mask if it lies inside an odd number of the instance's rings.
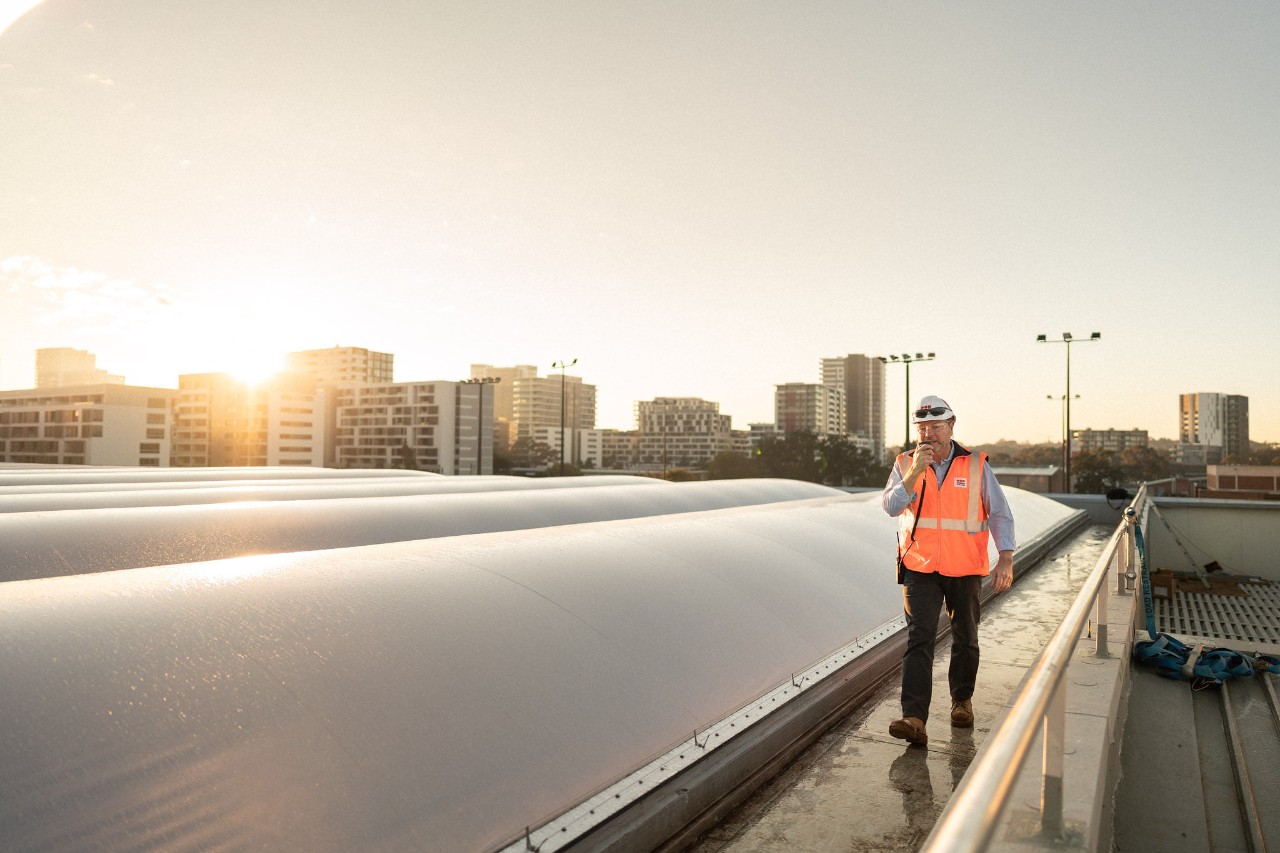
[{"label": "pale bolted metal strip along the roof cushion's edge, left of the man", "polygon": [[502,848],[503,852],[539,850],[539,853],[552,853],[573,844],[595,826],[657,790],[659,785],[671,781],[672,777],[707,758],[716,749],[724,747],[753,725],[782,710],[788,702],[874,649],[877,644],[904,630],[905,626],[905,617],[897,616],[836,649],[809,669],[792,675],[788,681],[783,681],[768,693],[751,699],[707,729],[695,731],[687,740],[676,744],[668,752],[627,774],[589,799],[541,826],[529,830],[526,835]]}]

